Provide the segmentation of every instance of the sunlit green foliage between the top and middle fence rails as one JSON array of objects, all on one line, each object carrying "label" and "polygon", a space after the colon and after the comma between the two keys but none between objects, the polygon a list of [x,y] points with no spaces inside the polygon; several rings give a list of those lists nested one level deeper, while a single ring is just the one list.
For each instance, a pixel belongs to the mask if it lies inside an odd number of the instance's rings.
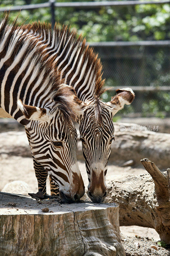
[{"label": "sunlit green foliage between the top and middle fence rails", "polygon": [[[89,0],[86,0],[87,2]],[[1,7],[38,4],[44,0],[2,0]],[[59,2],[74,2],[60,0]],[[81,1],[79,1],[81,2]],[[13,20],[18,12],[11,12]],[[170,22],[169,4],[142,4],[134,6],[108,6],[97,9],[55,8],[60,23],[77,28],[88,41],[135,41],[168,39]],[[50,9],[23,10],[19,20],[50,22]]]}]

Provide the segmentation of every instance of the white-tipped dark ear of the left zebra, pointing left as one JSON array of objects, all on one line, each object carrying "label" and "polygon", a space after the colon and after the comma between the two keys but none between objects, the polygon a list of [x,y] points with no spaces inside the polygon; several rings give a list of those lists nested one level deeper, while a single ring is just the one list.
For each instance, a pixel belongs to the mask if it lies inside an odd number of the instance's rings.
[{"label": "white-tipped dark ear of the left zebra, pointing left", "polygon": [[50,120],[50,116],[47,114],[47,110],[45,108],[24,105],[21,100],[17,101],[17,105],[28,120],[42,122],[48,122]]}]

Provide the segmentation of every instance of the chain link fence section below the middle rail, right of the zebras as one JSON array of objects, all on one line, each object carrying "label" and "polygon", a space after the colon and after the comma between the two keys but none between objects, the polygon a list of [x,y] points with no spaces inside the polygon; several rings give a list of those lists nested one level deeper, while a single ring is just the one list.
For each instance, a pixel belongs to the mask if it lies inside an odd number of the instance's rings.
[{"label": "chain link fence section below the middle rail, right of the zebras", "polygon": [[[95,46],[103,63],[107,87],[103,94],[110,100],[115,89],[132,87],[134,102],[118,115],[132,117],[170,116],[170,46]],[[161,89],[162,88],[162,89]]]}]

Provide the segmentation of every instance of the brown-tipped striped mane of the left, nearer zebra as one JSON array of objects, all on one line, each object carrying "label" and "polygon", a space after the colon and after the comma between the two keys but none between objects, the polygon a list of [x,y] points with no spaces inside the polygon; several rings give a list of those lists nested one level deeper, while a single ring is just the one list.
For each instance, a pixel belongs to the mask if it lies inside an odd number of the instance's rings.
[{"label": "brown-tipped striped mane of the left, nearer zebra", "polygon": [[[46,95],[48,95],[48,99],[55,100],[64,116],[67,116],[67,120],[68,117],[75,119],[75,114],[72,111],[73,101],[70,100],[70,98],[68,100],[68,96],[71,96],[73,92],[68,88],[68,86],[64,87],[62,85],[63,80],[60,79],[60,72],[53,64],[54,59],[46,52],[45,46],[41,45],[40,47],[39,37],[36,36],[35,40],[32,36],[28,36],[31,29],[33,29],[32,25],[23,25],[23,27],[25,26],[25,29],[23,29],[22,26],[19,27],[19,22],[17,21],[18,17],[12,22],[12,24],[10,24],[9,13],[10,12],[4,12],[3,17],[0,20],[0,59],[8,53],[9,60],[7,61],[13,61],[22,48],[23,52],[20,54],[19,62],[23,63],[27,60],[27,69],[30,65],[34,65],[34,68],[31,70],[31,72],[33,72],[34,69],[36,72],[34,81],[35,79],[38,80],[40,76],[42,77],[42,81],[36,88],[36,92],[41,90],[42,94],[45,92]],[[50,25],[45,25],[45,28],[48,31],[48,36],[50,36]],[[15,43],[15,47],[12,48],[13,43]],[[8,49],[7,52],[5,52],[6,49]],[[16,66],[15,68],[17,69],[18,67]],[[27,104],[27,99],[23,103]],[[42,107],[41,105],[38,106],[36,104],[35,106]]]}]

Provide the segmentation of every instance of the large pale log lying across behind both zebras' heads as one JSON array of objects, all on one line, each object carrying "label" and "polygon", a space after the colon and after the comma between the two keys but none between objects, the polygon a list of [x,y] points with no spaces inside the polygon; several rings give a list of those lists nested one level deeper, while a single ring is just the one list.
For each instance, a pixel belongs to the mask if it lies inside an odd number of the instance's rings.
[{"label": "large pale log lying across behind both zebras' heads", "polygon": [[[158,167],[167,169],[170,156],[170,134],[152,131],[140,131],[138,124],[116,123],[115,141],[112,142],[109,162],[124,163],[133,160],[134,164],[140,164],[140,159],[151,158],[153,162],[159,159]],[[124,131],[120,129],[124,127]],[[121,130],[121,131],[120,131]],[[80,134],[78,133],[77,159],[83,160]],[[0,154],[31,157],[28,140],[25,131],[0,133]]]}]

